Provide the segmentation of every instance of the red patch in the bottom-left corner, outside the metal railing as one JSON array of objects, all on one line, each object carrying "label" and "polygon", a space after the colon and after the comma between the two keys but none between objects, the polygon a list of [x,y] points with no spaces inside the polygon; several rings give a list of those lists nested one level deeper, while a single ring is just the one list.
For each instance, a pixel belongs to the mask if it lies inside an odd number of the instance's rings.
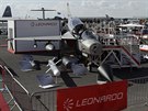
[{"label": "red patch in the bottom-left corner, outside the metal railing", "polygon": [[0,111],[10,111],[9,106],[1,92],[0,92]]}]

